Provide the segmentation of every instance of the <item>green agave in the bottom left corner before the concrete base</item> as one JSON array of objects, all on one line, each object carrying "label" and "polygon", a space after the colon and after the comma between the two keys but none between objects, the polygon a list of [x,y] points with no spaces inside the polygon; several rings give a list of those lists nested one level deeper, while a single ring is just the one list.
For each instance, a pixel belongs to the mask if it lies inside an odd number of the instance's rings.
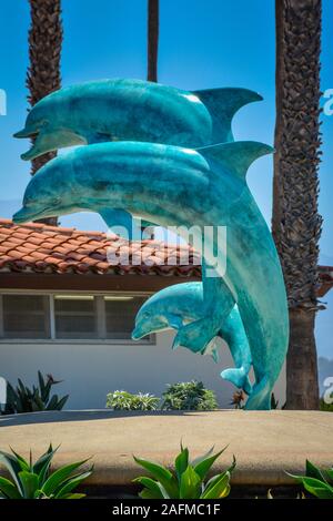
[{"label": "green agave in the bottom left corner before the concrete base", "polygon": [[85,472],[75,472],[88,460],[70,463],[54,472],[50,464],[56,449],[50,445],[36,462],[30,451],[29,462],[11,449],[12,453],[0,451],[0,463],[7,468],[12,480],[0,476],[0,499],[81,499],[83,493],[73,490],[87,479],[92,467]]}]

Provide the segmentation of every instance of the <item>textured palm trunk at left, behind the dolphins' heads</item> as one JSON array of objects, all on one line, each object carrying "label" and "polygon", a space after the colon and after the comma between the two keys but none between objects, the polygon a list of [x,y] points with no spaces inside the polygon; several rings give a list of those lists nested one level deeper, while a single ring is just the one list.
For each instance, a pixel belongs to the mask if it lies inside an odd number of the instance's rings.
[{"label": "textured palm trunk at left, behind the dolphins' heads", "polygon": [[[31,27],[29,30],[30,65],[27,73],[28,101],[33,106],[41,98],[61,86],[60,55],[62,44],[61,0],[29,0]],[[31,163],[33,175],[56,156],[50,152]],[[43,219],[57,224],[56,217]]]}]

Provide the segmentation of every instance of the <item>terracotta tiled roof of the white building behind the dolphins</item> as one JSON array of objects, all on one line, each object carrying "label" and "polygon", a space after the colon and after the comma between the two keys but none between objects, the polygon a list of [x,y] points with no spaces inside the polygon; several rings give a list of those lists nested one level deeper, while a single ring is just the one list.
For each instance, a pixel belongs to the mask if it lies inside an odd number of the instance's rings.
[{"label": "terracotta tiled roof of the white building behind the dolphins", "polygon": [[[117,264],[110,264],[110,255]],[[190,246],[175,247],[160,241],[128,243],[117,235],[107,236],[101,232],[80,232],[38,223],[16,225],[2,218],[0,272],[178,275],[199,278],[201,266],[198,254]],[[320,266],[317,296],[323,297],[331,287],[333,267]]]}]

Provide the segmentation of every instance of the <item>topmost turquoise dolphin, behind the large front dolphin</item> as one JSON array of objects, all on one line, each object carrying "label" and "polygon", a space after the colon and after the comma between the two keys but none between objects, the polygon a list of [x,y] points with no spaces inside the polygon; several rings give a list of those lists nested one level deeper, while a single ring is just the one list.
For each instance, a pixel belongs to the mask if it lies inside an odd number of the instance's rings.
[{"label": "topmost turquoise dolphin, behind the large front dolphin", "polygon": [[232,141],[231,121],[262,100],[248,89],[184,91],[142,80],[100,80],[65,86],[40,100],[16,137],[34,137],[23,160],[78,144],[143,141],[202,146]]}]

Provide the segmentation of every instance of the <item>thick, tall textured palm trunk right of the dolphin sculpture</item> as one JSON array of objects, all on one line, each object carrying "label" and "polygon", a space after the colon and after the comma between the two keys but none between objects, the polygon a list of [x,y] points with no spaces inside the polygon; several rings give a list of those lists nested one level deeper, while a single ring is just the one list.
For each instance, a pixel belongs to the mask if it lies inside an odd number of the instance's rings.
[{"label": "thick, tall textured palm trunk right of the dolphin sculpture", "polygon": [[314,338],[319,239],[321,0],[276,0],[272,229],[290,308],[286,407],[317,409]]}]

